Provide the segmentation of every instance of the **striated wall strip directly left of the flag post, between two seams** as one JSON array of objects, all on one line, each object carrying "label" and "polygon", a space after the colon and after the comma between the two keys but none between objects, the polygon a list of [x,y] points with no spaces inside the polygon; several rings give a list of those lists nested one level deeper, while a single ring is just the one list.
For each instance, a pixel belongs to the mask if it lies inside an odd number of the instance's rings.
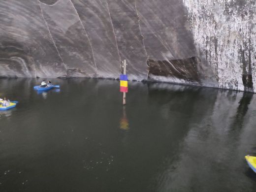
[{"label": "striated wall strip directly left of the flag post, between two seams", "polygon": [[92,43],[99,77],[117,78],[120,57],[106,0],[71,0]]}]

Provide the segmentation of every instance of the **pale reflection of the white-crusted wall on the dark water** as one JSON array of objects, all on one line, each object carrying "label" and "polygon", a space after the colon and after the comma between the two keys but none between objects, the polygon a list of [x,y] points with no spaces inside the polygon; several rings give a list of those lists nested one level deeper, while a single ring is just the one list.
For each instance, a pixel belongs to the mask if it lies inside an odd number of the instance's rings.
[{"label": "pale reflection of the white-crusted wall on the dark water", "polygon": [[188,132],[178,141],[182,148],[176,158],[165,157],[153,180],[156,191],[254,191],[256,186],[247,178],[255,176],[248,173],[250,168],[244,160],[253,149],[249,138],[256,136],[256,122],[248,121],[248,112],[256,108],[249,107],[253,96],[223,90],[212,96],[207,96],[205,89],[199,92],[191,103],[194,107],[187,121]]}]

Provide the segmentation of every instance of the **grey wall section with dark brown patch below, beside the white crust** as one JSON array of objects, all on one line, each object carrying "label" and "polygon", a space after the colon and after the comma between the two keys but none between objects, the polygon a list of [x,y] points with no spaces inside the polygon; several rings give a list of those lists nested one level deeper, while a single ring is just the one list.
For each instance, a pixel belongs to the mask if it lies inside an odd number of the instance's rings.
[{"label": "grey wall section with dark brown patch below, beside the white crust", "polygon": [[149,79],[200,85],[193,35],[180,0],[136,0]]}]

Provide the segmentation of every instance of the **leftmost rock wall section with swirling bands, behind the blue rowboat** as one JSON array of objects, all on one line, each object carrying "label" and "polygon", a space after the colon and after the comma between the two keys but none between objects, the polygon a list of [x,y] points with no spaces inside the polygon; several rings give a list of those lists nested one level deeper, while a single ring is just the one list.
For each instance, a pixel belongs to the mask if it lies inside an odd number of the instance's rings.
[{"label": "leftmost rock wall section with swirling bands, behind the blue rowboat", "polygon": [[0,0],[0,76],[64,74],[37,0]]}]

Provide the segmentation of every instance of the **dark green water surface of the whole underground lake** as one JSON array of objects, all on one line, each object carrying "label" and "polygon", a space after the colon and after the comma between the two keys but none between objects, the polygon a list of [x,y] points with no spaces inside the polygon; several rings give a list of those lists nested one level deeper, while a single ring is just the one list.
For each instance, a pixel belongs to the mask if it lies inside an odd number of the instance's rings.
[{"label": "dark green water surface of the whole underground lake", "polygon": [[255,192],[256,96],[209,88],[0,79],[0,192]]}]

